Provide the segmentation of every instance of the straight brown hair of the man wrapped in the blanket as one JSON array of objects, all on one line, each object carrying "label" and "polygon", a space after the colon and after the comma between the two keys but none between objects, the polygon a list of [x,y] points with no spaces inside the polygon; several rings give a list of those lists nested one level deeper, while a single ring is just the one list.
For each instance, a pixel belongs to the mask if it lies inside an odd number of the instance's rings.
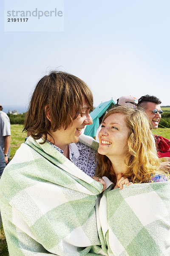
[{"label": "straight brown hair of the man wrapped in the blanket", "polygon": [[[93,95],[84,81],[65,72],[52,71],[35,87],[23,131],[28,131],[35,140],[43,137],[45,142],[50,129],[57,131],[62,126],[66,129],[77,118],[83,96],[93,111]],[[47,118],[48,111],[51,121]]]}]

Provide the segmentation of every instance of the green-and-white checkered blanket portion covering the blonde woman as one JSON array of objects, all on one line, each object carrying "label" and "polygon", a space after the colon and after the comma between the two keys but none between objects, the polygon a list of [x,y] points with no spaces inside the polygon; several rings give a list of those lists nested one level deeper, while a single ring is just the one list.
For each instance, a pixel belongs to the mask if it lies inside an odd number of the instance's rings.
[{"label": "green-and-white checkered blanket portion covering the blonde woman", "polygon": [[170,255],[170,181],[105,191],[96,215],[108,255]]}]

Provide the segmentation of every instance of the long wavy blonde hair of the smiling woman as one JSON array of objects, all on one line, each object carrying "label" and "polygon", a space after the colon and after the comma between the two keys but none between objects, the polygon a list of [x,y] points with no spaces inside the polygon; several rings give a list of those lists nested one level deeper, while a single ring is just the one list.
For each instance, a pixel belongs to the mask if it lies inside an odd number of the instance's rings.
[{"label": "long wavy blonde hair of the smiling woman", "polygon": [[[156,148],[153,135],[150,131],[149,120],[146,113],[139,109],[126,106],[117,106],[110,109],[102,119],[104,120],[114,114],[121,113],[129,128],[127,138],[127,154],[125,164],[127,171],[122,176],[127,177],[133,183],[147,183],[156,174],[163,174],[169,178],[166,171],[159,170],[159,158],[156,155]],[[113,182],[116,181],[112,163],[109,158],[99,153],[97,157],[96,175],[106,176]]]}]

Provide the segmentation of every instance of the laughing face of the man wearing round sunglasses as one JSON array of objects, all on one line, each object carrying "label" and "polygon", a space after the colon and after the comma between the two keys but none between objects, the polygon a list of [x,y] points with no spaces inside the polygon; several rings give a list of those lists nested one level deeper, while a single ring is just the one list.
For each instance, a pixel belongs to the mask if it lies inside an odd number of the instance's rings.
[{"label": "laughing face of the man wearing round sunglasses", "polygon": [[[153,110],[156,109],[158,113],[153,113]],[[159,125],[159,121],[161,120],[161,114],[159,111],[161,110],[160,105],[154,103],[154,102],[147,102],[147,106],[145,108],[145,111],[147,113],[147,116],[150,120],[150,124],[153,129],[157,129]]]}]

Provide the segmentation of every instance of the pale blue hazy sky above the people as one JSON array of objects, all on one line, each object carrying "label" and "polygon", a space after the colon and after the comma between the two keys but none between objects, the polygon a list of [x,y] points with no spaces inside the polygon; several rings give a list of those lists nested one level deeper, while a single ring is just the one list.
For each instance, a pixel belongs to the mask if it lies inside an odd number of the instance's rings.
[{"label": "pale blue hazy sky above the people", "polygon": [[[85,81],[94,107],[145,94],[170,105],[169,0],[23,0],[21,9],[51,9],[54,3],[62,9],[61,31],[50,31],[59,18],[42,17],[42,24],[30,23],[30,32],[4,31],[5,24],[19,26],[6,23],[4,8],[10,1],[0,1],[0,104],[5,112],[26,111],[37,81],[51,70]],[[13,1],[11,8],[19,9],[20,2]]]}]

